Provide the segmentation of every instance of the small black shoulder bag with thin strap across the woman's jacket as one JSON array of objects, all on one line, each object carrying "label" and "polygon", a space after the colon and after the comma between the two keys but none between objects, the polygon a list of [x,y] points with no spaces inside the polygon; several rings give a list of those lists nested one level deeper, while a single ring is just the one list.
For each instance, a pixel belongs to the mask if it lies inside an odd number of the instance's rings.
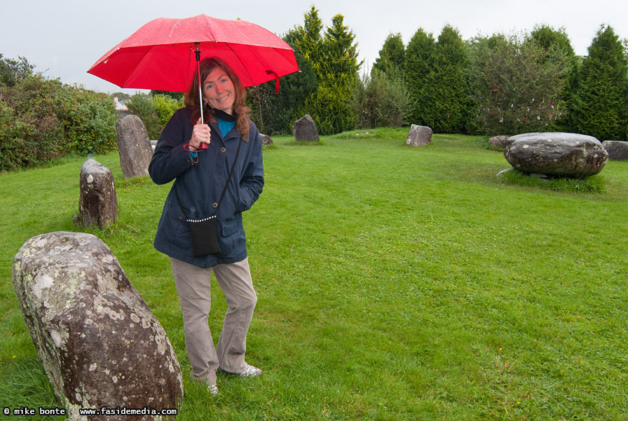
[{"label": "small black shoulder bag with thin strap across the woman's jacket", "polygon": [[216,213],[214,215],[200,220],[189,219],[185,209],[183,208],[183,206],[181,206],[181,200],[179,200],[179,193],[177,193],[177,186],[175,185],[175,196],[177,196],[177,203],[179,203],[179,208],[181,208],[183,214],[185,215],[185,220],[188,224],[192,236],[192,253],[195,258],[199,258],[200,256],[205,255],[217,255],[221,253],[220,246],[218,244],[218,229],[216,226],[216,217],[218,215],[220,202],[224,197],[224,192],[226,192],[229,181],[231,181],[231,175],[233,175],[235,163],[238,162],[240,145],[242,145],[242,138],[240,138],[240,142],[238,142],[238,150],[235,152],[235,159],[233,159],[231,171],[229,171],[227,182],[224,185],[224,189],[222,189],[222,194],[220,195],[220,200],[218,201],[218,205],[216,206]]}]

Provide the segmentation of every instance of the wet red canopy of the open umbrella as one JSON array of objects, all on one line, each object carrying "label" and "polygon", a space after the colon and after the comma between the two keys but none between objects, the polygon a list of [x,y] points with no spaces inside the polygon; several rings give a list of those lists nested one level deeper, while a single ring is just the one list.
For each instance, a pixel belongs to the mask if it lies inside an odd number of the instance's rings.
[{"label": "wet red canopy of the open umbrella", "polygon": [[111,48],[88,73],[121,88],[186,92],[197,62],[218,57],[255,86],[299,70],[294,51],[272,32],[244,20],[207,15],[158,18]]}]

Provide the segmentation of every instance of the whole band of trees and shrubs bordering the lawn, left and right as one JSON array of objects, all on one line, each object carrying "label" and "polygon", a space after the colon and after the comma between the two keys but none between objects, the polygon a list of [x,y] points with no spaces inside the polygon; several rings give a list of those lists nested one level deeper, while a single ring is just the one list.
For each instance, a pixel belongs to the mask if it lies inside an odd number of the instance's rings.
[{"label": "whole band of trees and shrubs bordering the lawn, left and right", "polygon": [[[600,27],[584,57],[564,29],[545,25],[469,40],[450,25],[436,38],[419,28],[407,45],[390,34],[363,69],[343,15],[328,27],[315,6],[303,17],[282,36],[301,71],[282,77],[278,95],[274,81],[248,90],[261,133],[288,134],[310,114],[322,135],[414,123],[435,133],[567,131],[628,140],[628,43],[610,26]],[[111,96],[47,79],[34,67],[0,54],[0,171],[116,149]],[[138,93],[128,107],[157,138],[180,97]]]}]

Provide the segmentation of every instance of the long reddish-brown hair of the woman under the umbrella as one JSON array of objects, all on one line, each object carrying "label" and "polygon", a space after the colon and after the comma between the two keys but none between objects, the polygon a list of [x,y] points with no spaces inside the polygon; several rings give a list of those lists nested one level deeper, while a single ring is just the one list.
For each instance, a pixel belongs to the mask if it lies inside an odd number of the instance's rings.
[{"label": "long reddish-brown hair of the woman under the umbrella", "polygon": [[[247,91],[243,86],[240,78],[238,77],[233,69],[229,67],[229,65],[217,57],[210,57],[201,60],[200,62],[200,80],[201,82],[207,79],[207,76],[213,72],[215,69],[221,69],[233,82],[233,87],[235,88],[235,100],[233,100],[233,113],[236,116],[235,120],[235,128],[238,129],[238,133],[240,133],[240,137],[245,141],[249,141],[249,114],[250,108],[247,107]],[[184,105],[186,107],[190,107],[194,109],[192,113],[192,124],[196,124],[196,121],[200,119],[200,98],[198,98],[198,69],[194,72],[194,77],[192,82],[190,83],[190,87],[185,94],[185,98],[183,100]],[[216,116],[214,116],[214,109],[212,107],[207,107],[207,105],[203,105],[203,121],[207,123],[207,121],[212,121],[212,123],[216,122]],[[226,133],[225,133],[226,134]]]}]

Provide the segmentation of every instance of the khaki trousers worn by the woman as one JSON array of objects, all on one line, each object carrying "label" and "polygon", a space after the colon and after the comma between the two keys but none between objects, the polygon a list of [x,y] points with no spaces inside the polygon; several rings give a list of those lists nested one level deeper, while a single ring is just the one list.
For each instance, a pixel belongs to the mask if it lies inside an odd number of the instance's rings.
[{"label": "khaki trousers worn by the woman", "polygon": [[[257,303],[248,259],[206,268],[175,258],[170,258],[170,262],[183,313],[185,348],[192,366],[192,378],[215,384],[217,368],[240,373],[246,367],[247,332]],[[212,304],[212,272],[227,302],[215,348],[207,323]]]}]

